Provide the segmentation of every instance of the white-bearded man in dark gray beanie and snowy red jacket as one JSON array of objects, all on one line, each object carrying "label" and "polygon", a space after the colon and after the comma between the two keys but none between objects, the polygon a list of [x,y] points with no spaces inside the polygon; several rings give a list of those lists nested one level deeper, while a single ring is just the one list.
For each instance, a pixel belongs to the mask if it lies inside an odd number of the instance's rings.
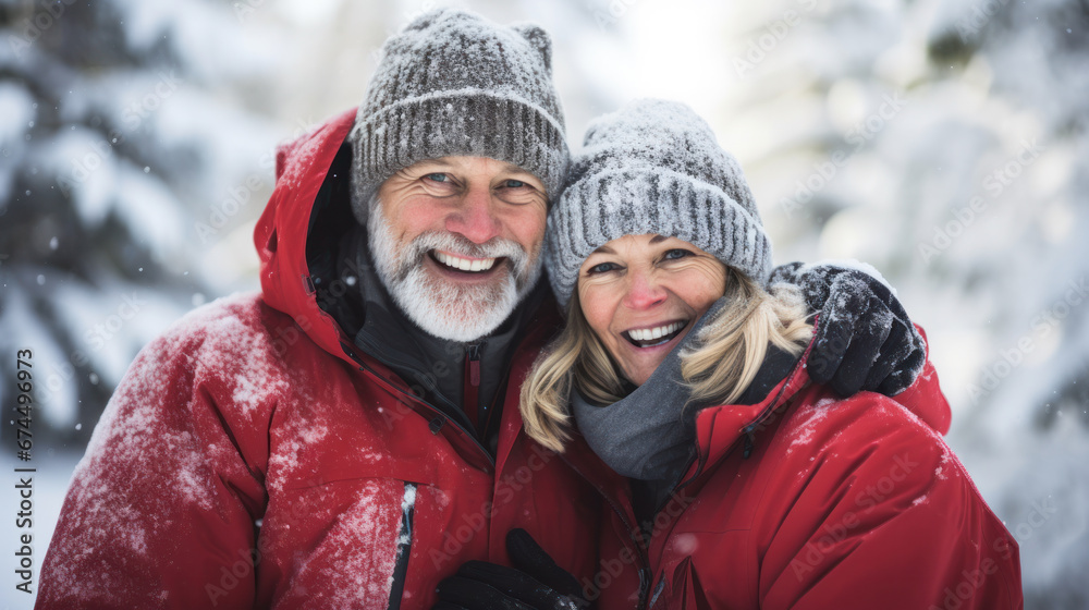
[{"label": "white-bearded man in dark gray beanie and snowy red jacket", "polygon": [[[280,151],[261,292],[188,314],[117,389],[38,608],[427,608],[465,561],[509,563],[516,527],[598,571],[598,495],[517,408],[560,324],[539,281],[568,158],[549,38],[437,11],[383,51],[357,111]],[[815,277],[816,303],[872,301]],[[848,343],[872,350],[859,382],[882,343],[917,352],[878,334],[829,341],[827,368]]]}]

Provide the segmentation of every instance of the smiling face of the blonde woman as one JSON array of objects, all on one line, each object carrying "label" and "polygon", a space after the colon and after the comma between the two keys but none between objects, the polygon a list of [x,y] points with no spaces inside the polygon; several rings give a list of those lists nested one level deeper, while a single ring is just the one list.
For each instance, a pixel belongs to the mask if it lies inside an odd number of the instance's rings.
[{"label": "smiling face of the blonde woman", "polygon": [[624,377],[641,386],[726,286],[726,267],[698,247],[662,235],[624,235],[594,251],[578,270],[586,321]]}]

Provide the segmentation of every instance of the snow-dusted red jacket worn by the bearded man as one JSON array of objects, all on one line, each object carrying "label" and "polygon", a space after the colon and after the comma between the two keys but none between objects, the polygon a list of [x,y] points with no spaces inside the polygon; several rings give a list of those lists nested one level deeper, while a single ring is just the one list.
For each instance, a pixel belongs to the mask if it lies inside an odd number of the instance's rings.
[{"label": "snow-dusted red jacket worn by the bearded man", "polygon": [[121,381],[37,608],[429,608],[463,562],[506,563],[513,527],[594,573],[597,496],[517,408],[558,318],[541,313],[514,358],[493,463],[317,306],[310,208],[354,117],[280,151],[255,232],[262,293],[191,313]]}]

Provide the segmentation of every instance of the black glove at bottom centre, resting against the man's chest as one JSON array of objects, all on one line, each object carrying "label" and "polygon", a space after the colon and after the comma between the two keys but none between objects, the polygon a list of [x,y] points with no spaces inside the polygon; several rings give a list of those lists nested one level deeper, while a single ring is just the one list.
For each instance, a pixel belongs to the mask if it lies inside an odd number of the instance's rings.
[{"label": "black glove at bottom centre, resting against the man's chest", "polygon": [[467,561],[439,583],[436,610],[579,610],[588,608],[578,581],[552,561],[525,529],[506,535],[515,568]]}]

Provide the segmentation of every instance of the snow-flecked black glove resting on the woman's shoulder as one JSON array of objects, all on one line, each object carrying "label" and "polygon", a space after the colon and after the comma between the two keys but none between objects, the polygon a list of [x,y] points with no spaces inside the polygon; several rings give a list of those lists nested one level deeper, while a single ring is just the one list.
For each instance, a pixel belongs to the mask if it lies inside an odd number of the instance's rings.
[{"label": "snow-flecked black glove resting on the woman's shoulder", "polygon": [[857,269],[836,265],[783,265],[771,283],[797,285],[819,313],[809,377],[849,396],[859,390],[893,396],[922,371],[927,349],[889,286]]}]

